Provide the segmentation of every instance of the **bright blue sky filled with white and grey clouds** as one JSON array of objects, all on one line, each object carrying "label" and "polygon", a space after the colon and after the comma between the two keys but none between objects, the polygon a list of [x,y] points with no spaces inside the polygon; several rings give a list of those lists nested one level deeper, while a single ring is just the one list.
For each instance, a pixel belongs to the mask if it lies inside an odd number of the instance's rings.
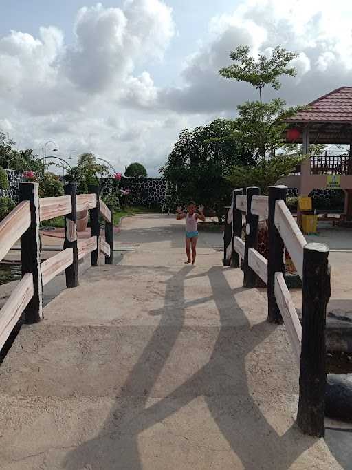
[{"label": "bright blue sky filled with white and grey clouds", "polygon": [[352,85],[352,2],[0,0],[0,129],[157,175],[181,129],[254,98],[217,74],[240,44],[298,52],[280,94],[307,103]]}]

